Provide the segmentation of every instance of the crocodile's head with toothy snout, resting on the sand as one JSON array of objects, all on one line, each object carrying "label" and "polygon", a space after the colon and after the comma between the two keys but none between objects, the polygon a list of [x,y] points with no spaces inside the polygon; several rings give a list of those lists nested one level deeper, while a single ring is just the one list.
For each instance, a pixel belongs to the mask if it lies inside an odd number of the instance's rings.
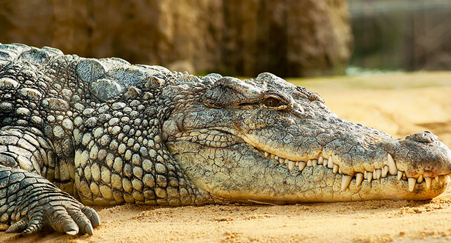
[{"label": "crocodile's head with toothy snout, resting on the sand", "polygon": [[273,74],[188,87],[177,87],[163,138],[216,201],[424,200],[450,181],[451,151],[436,135],[394,139]]}]

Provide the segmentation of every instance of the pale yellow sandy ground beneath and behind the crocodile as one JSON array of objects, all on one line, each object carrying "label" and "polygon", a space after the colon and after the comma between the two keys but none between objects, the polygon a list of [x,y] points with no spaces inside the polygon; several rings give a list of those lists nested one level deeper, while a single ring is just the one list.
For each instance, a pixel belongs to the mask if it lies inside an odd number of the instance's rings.
[{"label": "pale yellow sandy ground beneath and behind the crocodile", "polygon": [[[429,130],[451,146],[451,72],[295,81],[340,117],[395,137]],[[291,206],[96,207],[88,237],[0,233],[0,242],[450,242],[451,189],[431,201]]]}]

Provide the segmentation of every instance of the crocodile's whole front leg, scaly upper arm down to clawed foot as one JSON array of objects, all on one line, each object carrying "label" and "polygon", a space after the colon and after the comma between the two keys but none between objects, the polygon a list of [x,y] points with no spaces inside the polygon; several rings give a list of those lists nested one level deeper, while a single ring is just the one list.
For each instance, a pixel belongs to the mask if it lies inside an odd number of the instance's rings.
[{"label": "crocodile's whole front leg, scaly upper arm down to clawed foot", "polygon": [[69,235],[92,235],[99,215],[41,176],[53,177],[44,168],[55,158],[50,146],[42,146],[42,133],[34,132],[0,129],[0,229],[26,235],[51,227]]}]

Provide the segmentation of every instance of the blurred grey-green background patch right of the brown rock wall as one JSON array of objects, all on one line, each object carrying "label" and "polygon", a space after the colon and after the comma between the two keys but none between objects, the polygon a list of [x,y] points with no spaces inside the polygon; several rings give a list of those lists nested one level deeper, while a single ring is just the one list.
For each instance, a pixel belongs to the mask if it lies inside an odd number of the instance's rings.
[{"label": "blurred grey-green background patch right of the brown rock wall", "polygon": [[363,69],[451,70],[450,0],[349,0],[355,45],[350,65]]}]

